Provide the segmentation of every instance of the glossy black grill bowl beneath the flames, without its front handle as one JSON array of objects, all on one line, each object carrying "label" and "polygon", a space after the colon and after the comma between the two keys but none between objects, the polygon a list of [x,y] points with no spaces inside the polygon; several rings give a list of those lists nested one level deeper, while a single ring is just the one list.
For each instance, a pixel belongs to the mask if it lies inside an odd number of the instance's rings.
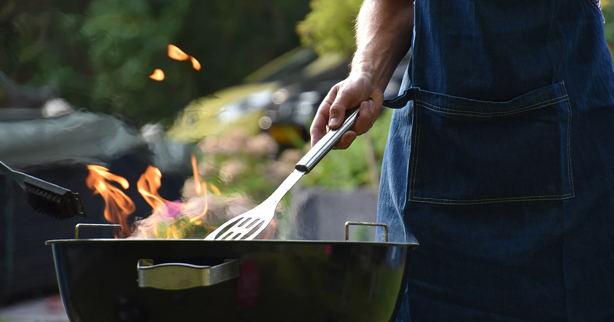
[{"label": "glossy black grill bowl beneath the flames, without its front handle", "polygon": [[[415,243],[304,240],[49,240],[73,322],[390,321]],[[216,266],[239,276],[186,289],[140,287],[137,264]]]}]

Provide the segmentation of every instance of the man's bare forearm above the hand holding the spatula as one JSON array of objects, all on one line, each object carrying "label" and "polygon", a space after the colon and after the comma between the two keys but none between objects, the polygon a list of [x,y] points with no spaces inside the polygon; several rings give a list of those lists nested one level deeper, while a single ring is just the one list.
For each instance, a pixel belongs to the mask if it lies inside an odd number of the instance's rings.
[{"label": "man's bare forearm above the hand holding the spatula", "polygon": [[370,75],[373,85],[383,91],[411,47],[413,24],[413,1],[365,0],[356,24],[351,74]]}]

